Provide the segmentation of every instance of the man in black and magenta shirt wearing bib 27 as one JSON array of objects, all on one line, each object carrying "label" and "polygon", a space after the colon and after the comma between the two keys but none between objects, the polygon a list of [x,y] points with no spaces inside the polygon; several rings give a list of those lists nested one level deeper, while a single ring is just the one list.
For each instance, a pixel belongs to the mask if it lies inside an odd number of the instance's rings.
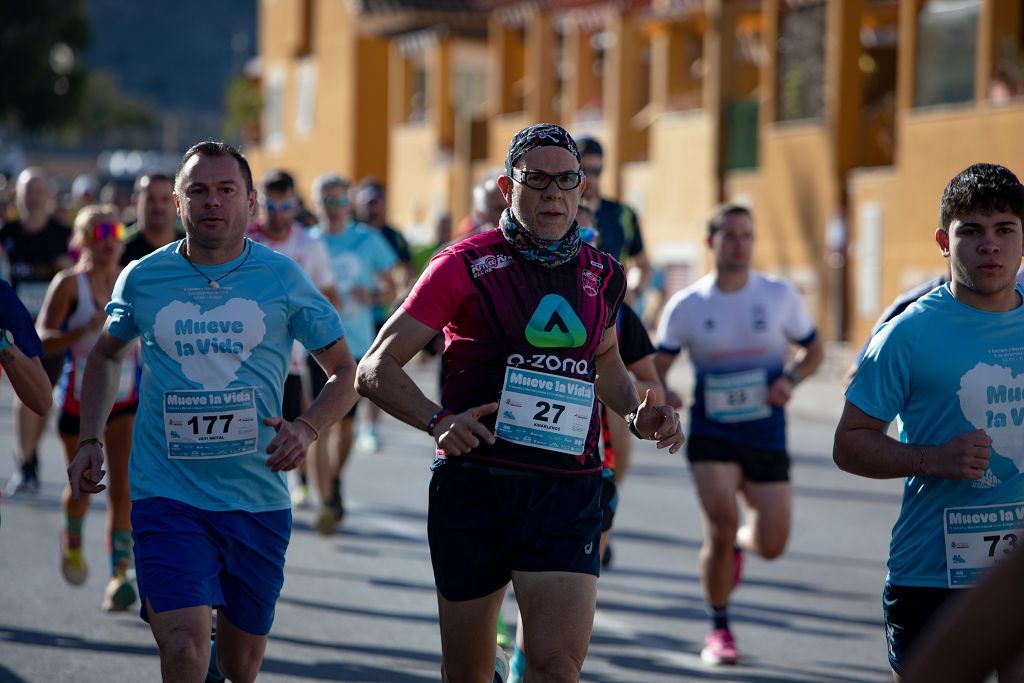
[{"label": "man in black and magenta shirt wearing bib 27", "polygon": [[[600,570],[598,400],[675,453],[679,418],[637,395],[615,340],[618,263],[582,244],[585,183],[571,136],[516,133],[500,229],[441,250],[359,364],[360,393],[435,441],[427,533],[442,678],[490,680],[508,584],[522,612],[526,680],[579,680]],[[402,367],[439,331],[441,404]]]}]

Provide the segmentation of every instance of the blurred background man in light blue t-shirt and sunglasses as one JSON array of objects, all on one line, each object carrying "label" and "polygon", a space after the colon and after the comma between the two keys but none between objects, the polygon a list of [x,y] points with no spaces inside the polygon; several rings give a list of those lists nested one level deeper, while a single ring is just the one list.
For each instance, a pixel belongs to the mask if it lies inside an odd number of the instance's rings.
[{"label": "blurred background man in light blue t-shirt and sunglasses", "polygon": [[[377,336],[374,306],[394,297],[393,268],[398,258],[378,229],[350,220],[347,180],[334,173],[322,175],[313,181],[312,195],[319,216],[313,234],[327,248],[341,301],[338,312],[345,326],[345,338],[358,360]],[[311,368],[310,375],[315,396],[323,386],[323,372]],[[334,457],[328,451],[327,439],[313,449],[322,503],[316,529],[324,536],[334,533],[345,514],[341,474],[355,436],[354,405],[339,428]]]}]

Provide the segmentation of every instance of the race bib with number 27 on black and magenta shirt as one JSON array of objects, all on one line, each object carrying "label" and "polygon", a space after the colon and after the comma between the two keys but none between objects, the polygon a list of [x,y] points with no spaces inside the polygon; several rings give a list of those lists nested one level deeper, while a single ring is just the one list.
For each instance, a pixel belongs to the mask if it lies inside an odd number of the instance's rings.
[{"label": "race bib with number 27 on black and magenta shirt", "polygon": [[594,399],[591,382],[506,368],[495,434],[513,443],[579,456],[590,431]]}]

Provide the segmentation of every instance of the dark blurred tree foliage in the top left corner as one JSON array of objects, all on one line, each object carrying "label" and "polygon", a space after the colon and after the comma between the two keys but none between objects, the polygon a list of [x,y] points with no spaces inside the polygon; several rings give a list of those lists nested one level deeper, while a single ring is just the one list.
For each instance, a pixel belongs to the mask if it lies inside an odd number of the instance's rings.
[{"label": "dark blurred tree foliage in the top left corner", "polygon": [[0,121],[41,130],[74,119],[89,34],[83,0],[0,2]]}]

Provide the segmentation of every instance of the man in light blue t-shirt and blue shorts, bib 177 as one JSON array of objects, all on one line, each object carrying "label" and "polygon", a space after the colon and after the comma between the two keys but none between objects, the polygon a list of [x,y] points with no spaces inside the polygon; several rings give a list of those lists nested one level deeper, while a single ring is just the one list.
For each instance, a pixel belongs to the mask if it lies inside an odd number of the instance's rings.
[{"label": "man in light blue t-shirt and blue shorts, bib 177", "polygon": [[[121,360],[140,338],[129,473],[142,617],[165,680],[249,681],[284,583],[285,473],[354,403],[355,362],[334,307],[302,268],[246,239],[256,194],[245,157],[221,142],[195,145],[175,174],[174,204],[185,239],[129,265],[106,306],[69,478],[76,498],[104,488],[98,435]],[[280,415],[295,340],[314,349],[331,380],[288,421]]]}]

